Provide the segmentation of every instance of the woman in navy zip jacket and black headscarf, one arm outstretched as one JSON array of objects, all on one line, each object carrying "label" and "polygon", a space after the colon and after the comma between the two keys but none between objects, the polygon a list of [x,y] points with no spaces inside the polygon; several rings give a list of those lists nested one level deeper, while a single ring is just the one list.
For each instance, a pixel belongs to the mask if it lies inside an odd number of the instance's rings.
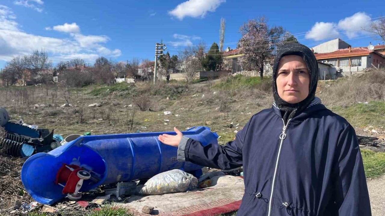
[{"label": "woman in navy zip jacket and black headscarf, one arm outstretched", "polygon": [[178,160],[212,168],[243,165],[238,216],[368,216],[370,202],[353,127],[315,97],[318,64],[301,44],[281,48],[273,66],[270,109],[253,115],[226,146],[177,135]]}]

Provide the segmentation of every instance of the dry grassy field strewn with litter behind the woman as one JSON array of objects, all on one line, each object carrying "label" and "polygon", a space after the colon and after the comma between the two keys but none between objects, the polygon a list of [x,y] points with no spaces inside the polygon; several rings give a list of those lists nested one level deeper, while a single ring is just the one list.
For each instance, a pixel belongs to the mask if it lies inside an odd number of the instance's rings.
[{"label": "dry grassy field strewn with litter behind the woman", "polygon": [[[319,82],[316,95],[356,130],[366,126],[384,128],[385,73],[381,73]],[[51,86],[48,91],[44,86],[2,87],[0,93],[0,105],[11,119],[54,129],[64,137],[85,132],[95,135],[173,131],[174,126],[184,131],[192,126],[207,126],[220,136],[221,145],[233,140],[254,113],[270,108],[273,101],[269,78],[244,76],[196,80],[193,84],[171,80],[157,85],[138,82],[83,88]],[[71,106],[60,107],[67,101]],[[92,103],[100,106],[89,107]],[[171,111],[171,115],[164,115],[164,111]],[[385,153],[362,150],[362,156],[368,178],[385,173]],[[116,212],[92,216],[129,215]]]}]

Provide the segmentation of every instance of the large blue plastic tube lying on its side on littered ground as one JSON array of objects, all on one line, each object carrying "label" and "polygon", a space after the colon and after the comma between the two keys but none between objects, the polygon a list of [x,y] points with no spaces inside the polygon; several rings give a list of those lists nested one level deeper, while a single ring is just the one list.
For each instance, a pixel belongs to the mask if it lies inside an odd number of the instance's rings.
[{"label": "large blue plastic tube lying on its side on littered ground", "polygon": [[[30,196],[42,204],[53,204],[64,198],[63,187],[54,183],[63,163],[78,163],[92,170],[97,181],[85,180],[80,191],[103,184],[132,181],[172,169],[191,172],[203,168],[191,162],[177,161],[177,148],[158,140],[161,134],[175,132],[131,133],[81,136],[49,153],[37,153],[23,164],[21,179]],[[203,145],[218,143],[218,135],[208,127],[182,131],[184,136]],[[98,176],[99,174],[99,176]]]}]

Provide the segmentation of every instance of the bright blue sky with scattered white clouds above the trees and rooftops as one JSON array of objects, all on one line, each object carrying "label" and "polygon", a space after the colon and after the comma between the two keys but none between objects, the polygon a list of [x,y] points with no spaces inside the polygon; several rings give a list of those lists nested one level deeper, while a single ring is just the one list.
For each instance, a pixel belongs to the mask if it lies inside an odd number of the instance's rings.
[{"label": "bright blue sky with scattered white clouds above the trees and rooftops", "polygon": [[154,60],[163,41],[171,55],[200,41],[219,42],[226,20],[224,47],[236,48],[239,27],[265,16],[300,43],[314,47],[334,38],[352,47],[383,43],[363,28],[385,18],[385,1],[255,0],[0,0],[0,68],[14,56],[45,50],[55,63],[99,56],[114,61]]}]

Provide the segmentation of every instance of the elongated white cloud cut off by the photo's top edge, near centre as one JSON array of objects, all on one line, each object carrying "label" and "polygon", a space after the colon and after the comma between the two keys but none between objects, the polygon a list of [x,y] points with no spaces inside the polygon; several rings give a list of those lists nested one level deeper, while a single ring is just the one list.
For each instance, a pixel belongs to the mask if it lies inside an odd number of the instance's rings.
[{"label": "elongated white cloud cut off by the photo's top edge, near centre", "polygon": [[214,12],[226,0],[188,0],[180,3],[168,13],[179,20],[184,17],[204,18],[207,12]]}]

